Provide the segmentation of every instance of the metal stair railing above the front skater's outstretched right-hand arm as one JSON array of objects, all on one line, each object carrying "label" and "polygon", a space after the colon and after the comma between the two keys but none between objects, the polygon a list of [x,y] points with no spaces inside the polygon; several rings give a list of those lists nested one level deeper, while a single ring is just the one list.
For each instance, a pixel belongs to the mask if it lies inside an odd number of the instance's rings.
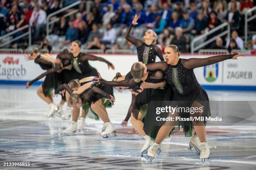
[{"label": "metal stair railing above the front skater's outstretched right-hand arm", "polygon": [[[218,30],[222,30],[224,29],[225,27],[227,27],[227,30],[225,31],[222,31],[220,34],[210,38],[209,40],[206,40],[207,36],[218,31]],[[219,25],[218,27],[216,28],[213,28],[212,30],[208,31],[208,32],[205,32],[203,35],[200,35],[198,37],[195,37],[191,43],[190,43],[190,48],[191,48],[191,53],[194,54],[195,51],[199,50],[200,48],[204,47],[205,45],[208,45],[210,44],[211,42],[213,42],[214,40],[216,40],[218,37],[222,37],[224,35],[228,34],[228,37],[230,37],[230,25],[228,23],[223,23],[221,25]],[[206,40],[202,43],[200,43],[199,45],[197,45],[195,47],[195,43],[196,42],[199,42],[199,41],[202,41],[202,40]]]}]

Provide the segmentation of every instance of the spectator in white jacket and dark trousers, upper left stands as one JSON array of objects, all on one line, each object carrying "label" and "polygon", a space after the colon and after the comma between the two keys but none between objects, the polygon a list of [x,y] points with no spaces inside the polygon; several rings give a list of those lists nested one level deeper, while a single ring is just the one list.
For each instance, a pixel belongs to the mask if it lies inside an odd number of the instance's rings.
[{"label": "spectator in white jacket and dark trousers, upper left stands", "polygon": [[38,39],[39,33],[46,28],[46,12],[36,5],[36,10],[32,13],[29,25],[33,27],[33,38]]}]

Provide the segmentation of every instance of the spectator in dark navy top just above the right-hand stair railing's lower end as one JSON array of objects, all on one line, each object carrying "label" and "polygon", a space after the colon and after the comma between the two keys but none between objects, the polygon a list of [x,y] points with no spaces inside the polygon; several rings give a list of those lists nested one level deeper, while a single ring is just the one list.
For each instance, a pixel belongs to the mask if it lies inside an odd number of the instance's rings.
[{"label": "spectator in dark navy top just above the right-hand stair railing's lower end", "polygon": [[197,14],[197,19],[195,21],[195,26],[191,30],[192,35],[201,35],[204,33],[204,30],[207,26],[207,20],[204,18],[202,13]]}]

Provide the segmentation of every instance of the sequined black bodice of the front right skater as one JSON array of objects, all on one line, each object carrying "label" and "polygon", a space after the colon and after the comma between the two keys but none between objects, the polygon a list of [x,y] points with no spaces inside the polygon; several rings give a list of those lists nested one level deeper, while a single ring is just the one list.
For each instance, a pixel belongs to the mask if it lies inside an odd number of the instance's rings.
[{"label": "sequined black bodice of the front right skater", "polygon": [[188,95],[199,85],[193,69],[187,69],[179,59],[177,65],[168,65],[164,70],[166,81],[172,86],[177,95]]}]

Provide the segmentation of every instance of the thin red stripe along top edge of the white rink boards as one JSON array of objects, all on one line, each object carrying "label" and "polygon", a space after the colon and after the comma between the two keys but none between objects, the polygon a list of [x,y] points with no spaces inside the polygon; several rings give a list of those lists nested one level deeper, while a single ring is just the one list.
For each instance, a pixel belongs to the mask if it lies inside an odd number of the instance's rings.
[{"label": "thin red stripe along top edge of the white rink boards", "polygon": [[[23,54],[28,54],[28,53],[0,53],[0,55],[1,54],[6,54],[6,55],[23,55]],[[57,54],[59,54],[59,53],[49,53],[49,54],[53,54],[53,55],[57,55]],[[118,54],[104,54],[104,53],[90,53],[90,54],[93,54],[93,55],[106,55],[106,56],[108,56],[108,55],[137,55],[136,53],[135,54],[123,54],[123,53],[118,53]],[[189,56],[193,56],[193,55],[202,55],[202,56],[206,56],[206,54],[196,54],[196,53],[194,53],[194,54],[190,54],[190,53],[182,53],[181,54],[181,57],[182,56],[185,56],[185,57],[189,57]],[[215,56],[215,55],[218,55],[218,54],[207,54],[207,56]],[[221,54],[219,54],[219,55],[221,55]],[[248,54],[248,55],[246,55],[246,56],[253,56],[253,57],[256,57],[256,54]]]}]

